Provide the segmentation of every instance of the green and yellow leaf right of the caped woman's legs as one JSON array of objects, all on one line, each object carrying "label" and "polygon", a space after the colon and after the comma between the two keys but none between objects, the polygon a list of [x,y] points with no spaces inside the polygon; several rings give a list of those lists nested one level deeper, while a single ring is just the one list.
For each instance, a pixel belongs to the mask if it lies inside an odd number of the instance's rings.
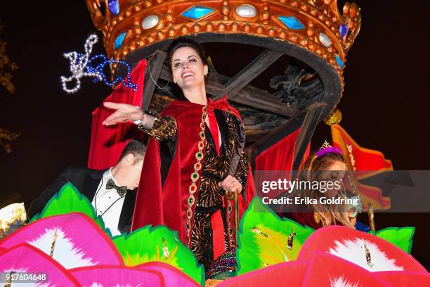
[{"label": "green and yellow leaf right of the caped woman's legs", "polygon": [[[254,197],[240,222],[237,275],[296,260],[301,246],[313,231],[294,220],[280,218],[261,198]],[[293,232],[296,235],[290,249],[288,237]]]}]

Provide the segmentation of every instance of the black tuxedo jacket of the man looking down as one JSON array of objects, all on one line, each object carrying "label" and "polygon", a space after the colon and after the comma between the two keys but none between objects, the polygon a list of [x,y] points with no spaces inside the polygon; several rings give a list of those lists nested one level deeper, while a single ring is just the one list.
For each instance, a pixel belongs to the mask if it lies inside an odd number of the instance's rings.
[{"label": "black tuxedo jacket of the man looking down", "polygon": [[[33,201],[27,212],[28,217],[31,219],[34,215],[44,210],[46,203],[69,181],[92,202],[105,171],[90,170],[85,167],[67,167],[65,172],[53,184],[48,186],[39,198]],[[133,189],[126,192],[118,222],[118,230],[121,233],[129,232],[131,229],[136,191],[137,189]]]}]

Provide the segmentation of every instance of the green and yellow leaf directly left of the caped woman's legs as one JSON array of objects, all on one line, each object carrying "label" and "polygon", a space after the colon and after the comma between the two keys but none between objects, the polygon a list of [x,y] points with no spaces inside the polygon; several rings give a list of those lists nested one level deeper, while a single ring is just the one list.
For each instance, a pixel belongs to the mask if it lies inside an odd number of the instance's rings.
[{"label": "green and yellow leaf directly left of the caped woman's legs", "polygon": [[113,242],[127,266],[150,261],[170,264],[204,285],[204,267],[193,252],[179,240],[176,231],[164,226],[146,226],[131,234],[115,236]]}]

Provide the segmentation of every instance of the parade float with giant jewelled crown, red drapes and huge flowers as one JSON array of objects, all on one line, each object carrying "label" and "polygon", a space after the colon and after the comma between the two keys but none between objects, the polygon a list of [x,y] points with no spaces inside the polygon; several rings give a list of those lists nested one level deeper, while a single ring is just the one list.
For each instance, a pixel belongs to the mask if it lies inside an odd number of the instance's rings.
[{"label": "parade float with giant jewelled crown, red drapes and huge flowers", "polygon": [[[86,0],[86,5],[103,34],[106,55],[91,56],[96,36],[89,37],[84,52],[65,54],[71,65],[71,75],[62,77],[65,91],[77,91],[84,76],[94,77],[112,85],[106,101],[131,103],[156,114],[174,100],[176,92],[165,64],[165,49],[173,39],[190,37],[205,47],[216,46],[221,55],[236,45],[240,51],[258,53],[251,60],[240,53],[247,64],[236,67],[238,72],[230,76],[221,74],[223,68],[211,55],[207,94],[213,98],[228,94],[240,110],[254,171],[298,170],[322,120],[332,125],[333,144],[341,148],[353,170],[392,170],[382,153],[360,148],[339,126],[336,106],[344,91],[346,53],[360,30],[356,4],[346,3],[342,12],[336,0]],[[264,75],[271,65],[284,74]],[[257,77],[269,79],[266,88],[251,85]],[[275,91],[268,92],[271,89]],[[88,165],[94,169],[112,166],[129,139],[143,138],[132,124],[110,129],[100,125],[109,113],[101,104],[93,111]],[[18,281],[36,286],[430,285],[428,272],[410,255],[415,229],[377,230],[372,210],[388,209],[389,198],[376,188],[355,184],[363,210],[370,214],[371,231],[340,226],[315,231],[280,217],[256,196],[237,222],[235,272],[211,270],[210,279],[176,231],[147,226],[112,236],[88,198],[66,184],[28,222],[22,205],[0,211],[1,282],[5,286]],[[219,258],[222,266],[228,266],[229,260]]]}]

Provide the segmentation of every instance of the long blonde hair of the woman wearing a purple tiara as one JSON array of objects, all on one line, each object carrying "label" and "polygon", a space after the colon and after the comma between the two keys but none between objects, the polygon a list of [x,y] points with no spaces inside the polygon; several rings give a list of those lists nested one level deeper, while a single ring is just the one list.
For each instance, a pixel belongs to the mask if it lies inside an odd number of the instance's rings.
[{"label": "long blonde hair of the woman wearing a purple tiara", "polygon": [[[318,175],[320,173],[318,171],[327,170],[328,167],[334,164],[334,162],[343,162],[346,166],[344,157],[339,153],[326,153],[321,156],[313,153],[313,155],[309,156],[304,162],[299,174],[299,180],[319,181],[320,178]],[[319,199],[323,193],[315,189],[306,189],[302,191],[302,194],[309,198]],[[346,196],[346,190],[340,189],[337,194],[339,196]],[[325,221],[323,222],[323,226],[333,225],[337,221],[346,227],[353,228],[353,224],[348,217],[348,212],[345,212],[346,209],[344,206],[339,208],[337,205],[323,205],[320,203],[320,200],[318,200],[318,204],[314,205],[314,209],[315,217],[321,218]]]}]

